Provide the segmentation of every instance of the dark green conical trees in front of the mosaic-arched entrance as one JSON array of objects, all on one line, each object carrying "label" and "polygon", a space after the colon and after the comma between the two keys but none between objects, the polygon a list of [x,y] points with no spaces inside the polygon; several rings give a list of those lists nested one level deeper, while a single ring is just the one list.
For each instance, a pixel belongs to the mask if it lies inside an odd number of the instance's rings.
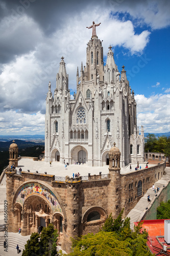
[{"label": "dark green conical trees in front of the mosaic-arched entrance", "polygon": [[57,253],[57,230],[53,224],[43,227],[41,234],[32,233],[22,256],[55,256]]}]

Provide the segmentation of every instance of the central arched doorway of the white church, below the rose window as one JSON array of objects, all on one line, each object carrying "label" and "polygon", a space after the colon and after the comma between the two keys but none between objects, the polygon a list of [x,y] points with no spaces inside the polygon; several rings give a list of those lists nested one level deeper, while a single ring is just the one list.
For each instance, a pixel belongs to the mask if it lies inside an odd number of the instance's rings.
[{"label": "central arched doorway of the white church, below the rose window", "polygon": [[86,163],[88,161],[88,152],[87,152],[86,148],[83,147],[83,146],[80,146],[80,145],[75,146],[74,148],[72,148],[70,154],[71,154],[72,164],[74,164],[77,161],[82,162],[82,161],[79,161],[79,160],[82,159],[82,157],[83,157],[83,162],[84,163]]}]

